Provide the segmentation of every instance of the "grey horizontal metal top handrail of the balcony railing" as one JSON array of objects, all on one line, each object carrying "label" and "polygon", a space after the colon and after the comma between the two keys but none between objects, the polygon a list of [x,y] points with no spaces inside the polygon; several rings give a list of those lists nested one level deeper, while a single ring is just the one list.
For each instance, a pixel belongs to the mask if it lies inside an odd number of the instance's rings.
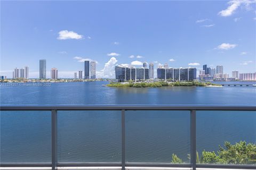
[{"label": "grey horizontal metal top handrail of the balcony railing", "polygon": [[256,105],[1,105],[0,111],[83,110],[256,111]]}]

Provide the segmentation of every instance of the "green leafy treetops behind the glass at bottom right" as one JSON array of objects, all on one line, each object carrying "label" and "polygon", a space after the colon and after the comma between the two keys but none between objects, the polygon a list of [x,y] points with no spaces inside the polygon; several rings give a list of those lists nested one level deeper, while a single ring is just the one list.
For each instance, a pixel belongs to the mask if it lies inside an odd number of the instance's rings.
[{"label": "green leafy treetops behind the glass at bottom right", "polygon": [[[256,164],[256,145],[245,141],[240,141],[231,145],[230,142],[224,143],[225,148],[219,146],[217,151],[218,155],[214,151],[202,151],[200,157],[196,152],[196,163],[198,164],[244,164],[255,165]],[[188,159],[190,155],[188,154]],[[182,159],[177,155],[172,155],[172,163],[183,163]]]}]

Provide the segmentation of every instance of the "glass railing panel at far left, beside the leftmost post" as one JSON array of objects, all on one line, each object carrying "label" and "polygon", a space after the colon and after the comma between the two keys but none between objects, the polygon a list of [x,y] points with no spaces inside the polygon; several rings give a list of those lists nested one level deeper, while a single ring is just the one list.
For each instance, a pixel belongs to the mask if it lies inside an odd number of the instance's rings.
[{"label": "glass railing panel at far left, beside the leftmost post", "polygon": [[51,163],[51,112],[1,111],[1,163]]}]

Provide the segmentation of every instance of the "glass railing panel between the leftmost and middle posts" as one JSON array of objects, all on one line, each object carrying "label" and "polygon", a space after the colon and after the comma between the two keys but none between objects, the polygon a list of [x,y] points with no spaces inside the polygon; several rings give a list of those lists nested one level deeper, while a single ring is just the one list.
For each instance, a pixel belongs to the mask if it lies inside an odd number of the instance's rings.
[{"label": "glass railing panel between the leftmost and middle posts", "polygon": [[58,111],[58,162],[121,162],[121,111]]}]

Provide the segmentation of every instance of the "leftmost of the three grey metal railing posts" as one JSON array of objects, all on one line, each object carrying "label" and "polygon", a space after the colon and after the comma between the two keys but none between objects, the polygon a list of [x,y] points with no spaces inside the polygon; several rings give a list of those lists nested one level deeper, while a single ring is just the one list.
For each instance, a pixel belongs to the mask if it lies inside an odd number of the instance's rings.
[{"label": "leftmost of the three grey metal railing posts", "polygon": [[52,110],[52,170],[57,169],[57,110]]}]

